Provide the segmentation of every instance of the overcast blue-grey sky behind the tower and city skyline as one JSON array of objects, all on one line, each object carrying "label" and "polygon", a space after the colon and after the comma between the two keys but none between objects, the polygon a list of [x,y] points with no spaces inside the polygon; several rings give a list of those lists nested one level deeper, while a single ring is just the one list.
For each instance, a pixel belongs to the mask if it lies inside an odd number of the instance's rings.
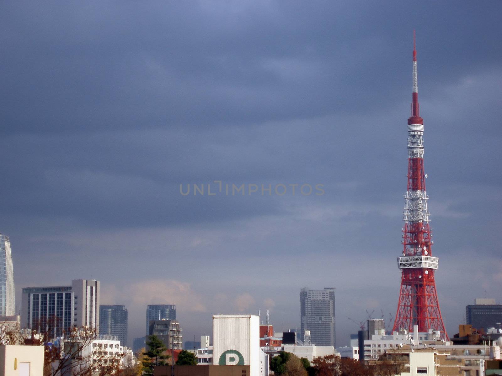
[{"label": "overcast blue-grey sky behind the tower and city skyline", "polygon": [[500,1],[2,2],[0,232],[17,304],[22,287],[97,279],[102,304],[128,307],[131,344],[155,303],[177,305],[184,340],[211,335],[212,314],[259,309],[299,329],[307,285],[336,287],[337,345],[358,329],[348,317],[393,317],[416,29],[453,335],[474,298],[502,302],[500,14]]}]

